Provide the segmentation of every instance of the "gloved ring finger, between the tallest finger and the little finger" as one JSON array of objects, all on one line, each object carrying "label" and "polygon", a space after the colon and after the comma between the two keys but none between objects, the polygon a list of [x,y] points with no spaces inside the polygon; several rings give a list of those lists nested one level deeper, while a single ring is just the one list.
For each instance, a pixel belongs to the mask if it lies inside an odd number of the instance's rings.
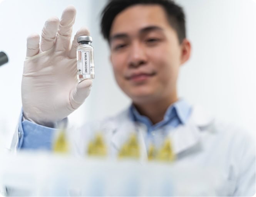
[{"label": "gloved ring finger, between the tallest finger and the little finger", "polygon": [[42,51],[49,50],[54,46],[59,22],[59,18],[57,17],[51,17],[47,21],[45,21],[40,42],[40,47]]}]

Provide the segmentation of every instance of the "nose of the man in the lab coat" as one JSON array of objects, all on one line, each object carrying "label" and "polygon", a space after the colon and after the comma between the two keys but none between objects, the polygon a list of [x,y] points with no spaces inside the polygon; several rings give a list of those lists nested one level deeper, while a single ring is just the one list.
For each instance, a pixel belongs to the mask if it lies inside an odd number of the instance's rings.
[{"label": "nose of the man in the lab coat", "polygon": [[129,67],[136,68],[147,63],[146,49],[140,42],[133,42],[129,53]]}]

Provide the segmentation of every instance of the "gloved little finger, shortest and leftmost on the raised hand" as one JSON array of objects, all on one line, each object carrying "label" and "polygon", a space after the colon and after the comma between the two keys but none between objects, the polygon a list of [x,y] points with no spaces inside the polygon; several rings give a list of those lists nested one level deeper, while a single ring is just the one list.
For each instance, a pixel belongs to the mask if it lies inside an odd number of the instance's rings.
[{"label": "gloved little finger, shortest and leftmost on the raised hand", "polygon": [[38,33],[32,33],[27,37],[27,57],[37,55],[39,52],[39,40]]}]

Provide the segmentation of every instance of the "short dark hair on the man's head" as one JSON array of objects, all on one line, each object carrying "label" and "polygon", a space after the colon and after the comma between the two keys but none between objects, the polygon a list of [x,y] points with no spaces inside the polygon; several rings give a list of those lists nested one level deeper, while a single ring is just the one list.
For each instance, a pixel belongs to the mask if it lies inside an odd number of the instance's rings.
[{"label": "short dark hair on the man's head", "polygon": [[137,4],[156,4],[164,8],[167,19],[174,30],[176,30],[179,43],[186,38],[185,14],[182,8],[172,0],[109,0],[101,13],[101,33],[109,41],[110,28],[117,14],[125,8]]}]

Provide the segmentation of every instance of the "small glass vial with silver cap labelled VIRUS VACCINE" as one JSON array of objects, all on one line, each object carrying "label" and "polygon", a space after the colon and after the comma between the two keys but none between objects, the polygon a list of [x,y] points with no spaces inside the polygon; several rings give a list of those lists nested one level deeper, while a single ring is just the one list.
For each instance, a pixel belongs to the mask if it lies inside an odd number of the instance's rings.
[{"label": "small glass vial with silver cap labelled VIRUS VACCINE", "polygon": [[94,79],[94,51],[91,45],[92,37],[79,36],[77,38],[77,79]]}]

